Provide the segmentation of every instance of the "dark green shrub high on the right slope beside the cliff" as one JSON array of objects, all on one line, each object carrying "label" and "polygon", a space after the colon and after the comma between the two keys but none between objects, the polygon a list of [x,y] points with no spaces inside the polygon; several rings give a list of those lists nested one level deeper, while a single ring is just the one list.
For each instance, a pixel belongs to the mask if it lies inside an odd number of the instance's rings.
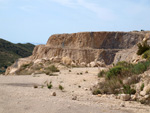
[{"label": "dark green shrub high on the right slope beside the cliff", "polygon": [[137,55],[142,55],[145,51],[150,49],[150,46],[147,44],[147,41],[137,44],[138,51]]}]

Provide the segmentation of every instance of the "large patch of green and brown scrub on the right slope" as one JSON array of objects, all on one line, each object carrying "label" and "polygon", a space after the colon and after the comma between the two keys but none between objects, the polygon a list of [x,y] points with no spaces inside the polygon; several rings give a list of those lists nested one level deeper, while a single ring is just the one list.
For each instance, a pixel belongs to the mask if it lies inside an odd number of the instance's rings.
[{"label": "large patch of green and brown scrub on the right slope", "polygon": [[[114,67],[106,72],[100,72],[105,75],[105,82],[100,83],[99,90],[106,94],[134,94],[136,91],[131,87],[139,81],[138,74],[144,73],[150,67],[150,61],[139,62],[137,64],[118,62]],[[99,76],[101,76],[99,74]],[[130,77],[130,82],[124,84],[123,81]],[[123,89],[122,89],[123,88]],[[122,90],[121,90],[122,89]]]}]

